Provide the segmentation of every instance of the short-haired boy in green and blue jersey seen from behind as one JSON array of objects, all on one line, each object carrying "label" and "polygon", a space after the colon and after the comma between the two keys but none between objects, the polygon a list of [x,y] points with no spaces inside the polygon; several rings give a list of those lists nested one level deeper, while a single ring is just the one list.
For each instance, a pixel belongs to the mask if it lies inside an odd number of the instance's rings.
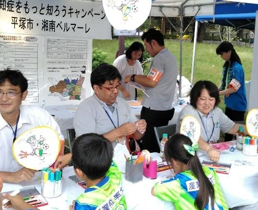
[{"label": "short-haired boy in green and blue jersey seen from behind", "polygon": [[121,174],[112,161],[113,146],[103,135],[83,134],[72,146],[76,176],[87,189],[70,206],[70,210],[126,210]]}]

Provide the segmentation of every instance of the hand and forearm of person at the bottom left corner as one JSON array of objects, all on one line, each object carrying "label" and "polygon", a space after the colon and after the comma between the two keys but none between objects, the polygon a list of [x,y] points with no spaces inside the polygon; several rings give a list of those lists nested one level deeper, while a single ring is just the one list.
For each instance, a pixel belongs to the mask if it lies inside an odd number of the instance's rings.
[{"label": "hand and forearm of person at the bottom left corner", "polygon": [[[2,179],[0,177],[0,192],[2,191]],[[39,210],[28,203],[18,194],[16,196],[5,195],[9,202],[4,205],[4,208],[13,208],[15,210]],[[0,195],[0,210],[2,210],[2,196]]]}]

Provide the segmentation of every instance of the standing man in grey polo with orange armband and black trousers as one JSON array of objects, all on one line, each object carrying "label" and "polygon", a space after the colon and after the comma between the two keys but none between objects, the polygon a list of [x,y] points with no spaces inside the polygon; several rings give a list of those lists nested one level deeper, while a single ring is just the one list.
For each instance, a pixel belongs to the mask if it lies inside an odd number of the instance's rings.
[{"label": "standing man in grey polo with orange armband and black trousers", "polygon": [[[147,122],[142,139],[143,148],[150,152],[160,152],[153,127],[165,126],[172,119],[175,109],[172,106],[177,81],[177,61],[164,46],[160,31],[150,28],[141,36],[144,46],[153,57],[147,76],[127,75],[124,82],[133,81],[144,86],[141,119]],[[147,96],[148,95],[148,96]]]}]

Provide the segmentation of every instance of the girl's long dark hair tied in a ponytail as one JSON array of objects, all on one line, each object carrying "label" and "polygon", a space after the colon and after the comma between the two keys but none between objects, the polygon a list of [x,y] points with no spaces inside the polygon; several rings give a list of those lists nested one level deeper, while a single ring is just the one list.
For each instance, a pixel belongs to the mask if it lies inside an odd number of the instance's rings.
[{"label": "girl's long dark hair tied in a ponytail", "polygon": [[165,143],[165,159],[168,163],[170,163],[171,158],[173,158],[174,160],[188,165],[188,168],[199,181],[199,191],[194,204],[197,209],[203,210],[209,202],[210,197],[211,206],[214,205],[214,188],[203,172],[198,156],[196,154],[194,156],[190,155],[183,144],[192,145],[192,141],[183,134],[174,134],[171,136]]}]

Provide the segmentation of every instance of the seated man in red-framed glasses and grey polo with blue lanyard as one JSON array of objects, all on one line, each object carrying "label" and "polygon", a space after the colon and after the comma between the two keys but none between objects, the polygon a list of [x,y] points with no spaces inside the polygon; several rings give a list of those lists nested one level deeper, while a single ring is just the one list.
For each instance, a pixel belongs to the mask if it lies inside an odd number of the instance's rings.
[{"label": "seated man in red-framed glasses and grey polo with blue lanyard", "polygon": [[[87,133],[103,134],[113,147],[121,138],[133,134],[140,140],[146,129],[144,119],[138,120],[124,99],[117,97],[121,88],[121,75],[116,67],[101,64],[92,71],[91,84],[94,95],[84,99],[73,119],[76,137]],[[57,159],[55,167],[70,162],[71,154]]]}]

